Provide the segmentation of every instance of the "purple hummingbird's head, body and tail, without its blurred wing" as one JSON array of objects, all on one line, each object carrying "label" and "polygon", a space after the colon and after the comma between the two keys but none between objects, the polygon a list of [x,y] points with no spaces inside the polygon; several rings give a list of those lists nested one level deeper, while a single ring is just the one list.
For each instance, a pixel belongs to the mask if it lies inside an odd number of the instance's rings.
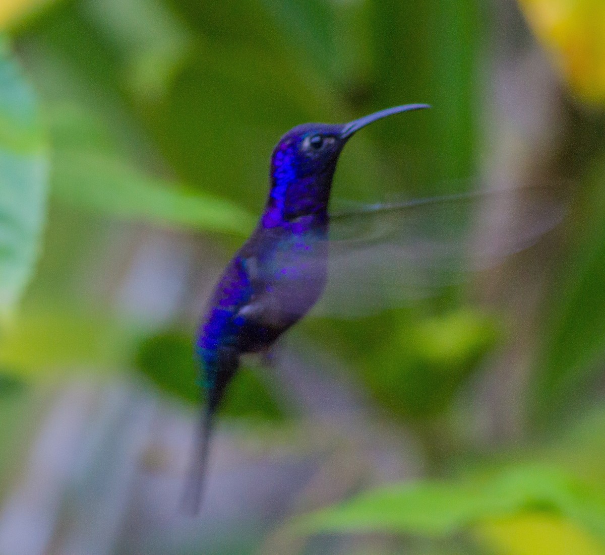
[{"label": "purple hummingbird's head, body and tail, without its blurred wing", "polygon": [[267,352],[324,291],[328,204],[342,149],[372,122],[425,108],[430,106],[408,104],[341,125],[299,125],[273,149],[264,211],[250,238],[224,269],[197,333],[195,354],[206,406],[184,499],[194,513],[201,503],[214,419],[241,356]]}]

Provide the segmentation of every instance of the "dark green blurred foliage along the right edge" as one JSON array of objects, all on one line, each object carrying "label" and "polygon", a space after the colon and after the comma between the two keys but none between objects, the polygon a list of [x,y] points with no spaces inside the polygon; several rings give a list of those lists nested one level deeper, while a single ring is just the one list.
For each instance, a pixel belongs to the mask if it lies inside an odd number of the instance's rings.
[{"label": "dark green blurred foliage along the right edge", "polygon": [[[537,418],[576,407],[605,353],[605,189],[602,157],[583,176],[582,224],[574,229],[567,264],[548,310],[535,380]],[[580,221],[580,218],[578,218]]]}]

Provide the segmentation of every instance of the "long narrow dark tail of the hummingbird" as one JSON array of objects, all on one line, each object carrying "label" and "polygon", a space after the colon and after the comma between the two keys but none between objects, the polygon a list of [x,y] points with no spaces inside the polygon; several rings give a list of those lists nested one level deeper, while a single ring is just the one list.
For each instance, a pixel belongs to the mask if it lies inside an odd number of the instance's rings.
[{"label": "long narrow dark tail of the hummingbird", "polygon": [[201,499],[204,492],[206,466],[210,437],[214,427],[214,417],[218,409],[218,395],[209,395],[208,404],[200,414],[195,438],[195,452],[191,458],[191,467],[185,482],[185,492],[181,506],[187,514],[195,515],[200,512]]}]

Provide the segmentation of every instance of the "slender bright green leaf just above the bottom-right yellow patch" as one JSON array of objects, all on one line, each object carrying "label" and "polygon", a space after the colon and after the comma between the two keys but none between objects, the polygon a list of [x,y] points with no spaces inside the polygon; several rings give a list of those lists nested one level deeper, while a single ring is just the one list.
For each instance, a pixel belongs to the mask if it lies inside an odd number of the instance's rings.
[{"label": "slender bright green leaf just above the bottom-right yellow patch", "polygon": [[561,470],[520,466],[460,481],[394,484],[297,523],[319,531],[393,531],[448,536],[480,522],[527,511],[563,514],[605,540],[605,498]]}]

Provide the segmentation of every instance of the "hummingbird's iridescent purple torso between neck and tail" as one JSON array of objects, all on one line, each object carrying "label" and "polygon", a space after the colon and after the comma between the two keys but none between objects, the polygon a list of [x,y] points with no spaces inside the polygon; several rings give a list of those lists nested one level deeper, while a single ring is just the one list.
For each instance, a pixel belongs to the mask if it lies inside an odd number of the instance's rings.
[{"label": "hummingbird's iridescent purple torso between neck and tail", "polygon": [[[267,349],[318,301],[327,281],[327,215],[306,215],[250,236],[225,268],[200,326],[209,383],[217,353]],[[208,377],[210,374],[210,377]]]}]

